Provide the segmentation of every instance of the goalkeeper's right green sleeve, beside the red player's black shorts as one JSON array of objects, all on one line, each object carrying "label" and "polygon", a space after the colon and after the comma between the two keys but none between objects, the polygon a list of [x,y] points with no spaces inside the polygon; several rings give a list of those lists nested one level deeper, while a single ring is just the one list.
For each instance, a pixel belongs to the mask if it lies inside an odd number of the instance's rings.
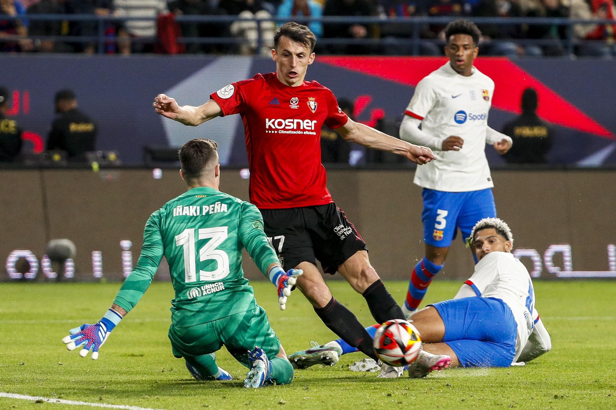
[{"label": "goalkeeper's right green sleeve, beside the red player's black shorts", "polygon": [[240,240],[253,258],[262,274],[267,276],[267,267],[278,263],[278,256],[274,248],[267,240],[263,231],[263,217],[261,212],[253,204],[244,202],[241,205],[240,215]]}]

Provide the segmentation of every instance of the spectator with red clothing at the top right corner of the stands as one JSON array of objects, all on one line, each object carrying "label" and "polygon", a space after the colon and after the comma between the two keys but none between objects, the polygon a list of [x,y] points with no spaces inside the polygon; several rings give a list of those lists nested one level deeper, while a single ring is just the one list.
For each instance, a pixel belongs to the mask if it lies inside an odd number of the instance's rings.
[{"label": "spectator with red clothing at the top right corner of the stands", "polygon": [[[571,18],[615,19],[616,9],[612,0],[572,0]],[[578,55],[582,57],[611,58],[616,55],[616,24],[615,25],[583,25],[573,26],[575,37],[583,41],[578,46]]]}]

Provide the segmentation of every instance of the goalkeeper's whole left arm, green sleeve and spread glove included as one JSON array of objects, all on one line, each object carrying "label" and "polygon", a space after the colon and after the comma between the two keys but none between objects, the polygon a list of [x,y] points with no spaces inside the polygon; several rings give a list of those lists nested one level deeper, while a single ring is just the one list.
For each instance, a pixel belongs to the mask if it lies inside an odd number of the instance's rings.
[{"label": "goalkeeper's whole left arm, green sleeve and spread glove included", "polygon": [[111,331],[144,295],[163,258],[163,240],[158,221],[159,214],[156,211],[145,224],[144,246],[137,266],[124,281],[111,308],[94,325],[85,323],[70,329],[70,334],[62,339],[68,350],[83,346],[79,356],[86,357],[92,349],[92,359],[99,358],[99,349],[107,341]]}]

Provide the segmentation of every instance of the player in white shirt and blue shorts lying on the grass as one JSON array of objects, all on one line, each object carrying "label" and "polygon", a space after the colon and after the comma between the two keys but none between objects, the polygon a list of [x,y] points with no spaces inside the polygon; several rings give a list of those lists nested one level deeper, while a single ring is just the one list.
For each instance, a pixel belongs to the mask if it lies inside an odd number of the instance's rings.
[{"label": "player in white shirt and blue shorts lying on the grass", "polygon": [[[455,298],[429,305],[410,320],[421,334],[422,352],[408,366],[410,377],[456,367],[508,367],[533,360],[551,349],[548,332],[535,308],[529,272],[511,253],[513,234],[498,218],[485,218],[468,239],[479,259],[475,272]],[[376,333],[379,325],[373,326]],[[346,354],[357,351],[341,339],[326,346]],[[290,355],[300,368],[333,365],[326,354]],[[397,377],[402,368],[383,366],[380,377]]]}]

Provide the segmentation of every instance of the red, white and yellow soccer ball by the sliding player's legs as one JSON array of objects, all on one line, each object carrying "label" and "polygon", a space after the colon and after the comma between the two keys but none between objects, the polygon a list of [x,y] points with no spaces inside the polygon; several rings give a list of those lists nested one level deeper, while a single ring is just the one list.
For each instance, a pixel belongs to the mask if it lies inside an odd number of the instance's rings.
[{"label": "red, white and yellow soccer ball by the sliding player's legs", "polygon": [[406,320],[387,320],[376,331],[374,347],[378,358],[387,365],[405,366],[419,355],[421,336]]}]

